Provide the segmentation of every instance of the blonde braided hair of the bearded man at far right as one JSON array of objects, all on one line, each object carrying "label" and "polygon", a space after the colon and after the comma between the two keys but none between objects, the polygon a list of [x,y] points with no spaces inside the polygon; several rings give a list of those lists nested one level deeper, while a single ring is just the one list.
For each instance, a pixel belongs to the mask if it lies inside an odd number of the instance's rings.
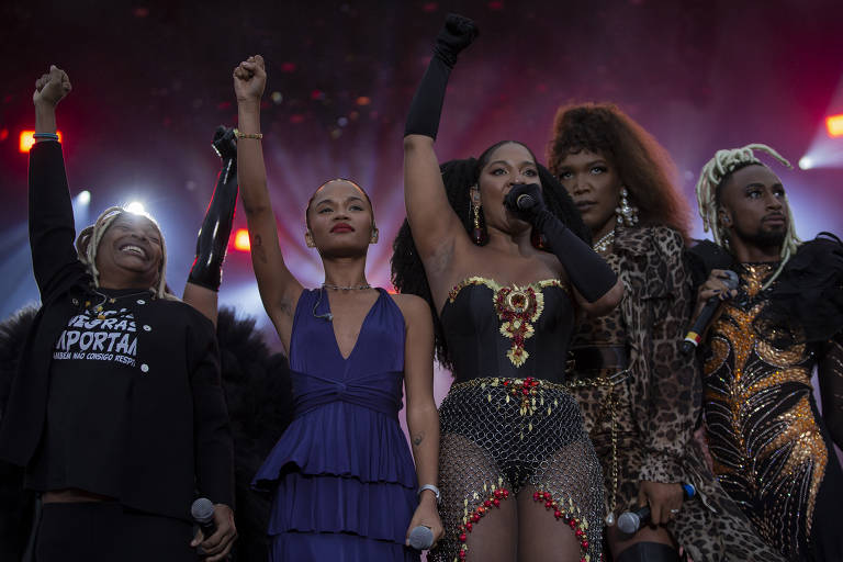
[{"label": "blonde braided hair of the bearded man at far right", "polygon": [[[741,148],[730,148],[726,150],[718,150],[715,157],[711,158],[702,167],[702,171],[699,175],[697,181],[697,204],[699,205],[699,216],[702,218],[702,229],[705,232],[711,232],[711,236],[715,238],[715,244],[726,249],[729,249],[729,240],[727,237],[726,228],[720,224],[720,213],[718,213],[718,188],[722,186],[726,179],[737,169],[757,164],[764,166],[758,160],[753,150],[761,150],[767,153],[773,158],[793,169],[790,162],[785,159],[784,156],[778,154],[775,149],[767,145],[751,144]],[[794,226],[794,216],[790,212],[790,203],[787,200],[787,193],[785,193],[785,213],[787,214],[787,233],[785,233],[785,240],[782,244],[782,263],[769,280],[764,283],[763,289],[768,288],[782,273],[787,261],[796,254],[801,240],[796,236],[796,227]]]}]

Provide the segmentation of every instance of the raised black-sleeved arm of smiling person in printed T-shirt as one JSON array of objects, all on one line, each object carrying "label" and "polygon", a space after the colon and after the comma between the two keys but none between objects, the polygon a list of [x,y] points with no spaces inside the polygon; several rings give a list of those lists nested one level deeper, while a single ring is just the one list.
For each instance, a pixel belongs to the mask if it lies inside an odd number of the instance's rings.
[{"label": "raised black-sleeved arm of smiling person in printed T-shirt", "polygon": [[56,136],[56,105],[70,92],[67,74],[50,66],[35,82],[35,145],[30,150],[30,246],[42,301],[63,286],[74,268],[82,270],[74,247],[74,209]]}]

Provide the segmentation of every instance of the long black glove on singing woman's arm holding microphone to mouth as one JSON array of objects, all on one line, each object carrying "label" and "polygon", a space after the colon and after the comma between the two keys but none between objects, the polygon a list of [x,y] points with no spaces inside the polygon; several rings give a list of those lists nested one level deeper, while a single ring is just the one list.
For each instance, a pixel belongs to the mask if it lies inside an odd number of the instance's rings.
[{"label": "long black glove on singing woman's arm holding microphone to mouth", "polygon": [[[527,196],[532,199],[531,205],[525,204],[524,199]],[[522,201],[520,207],[518,198]],[[548,248],[565,268],[571,283],[586,301],[597,302],[615,286],[618,277],[609,265],[548,210],[541,196],[541,186],[513,186],[504,198],[504,205],[544,235]]]}]

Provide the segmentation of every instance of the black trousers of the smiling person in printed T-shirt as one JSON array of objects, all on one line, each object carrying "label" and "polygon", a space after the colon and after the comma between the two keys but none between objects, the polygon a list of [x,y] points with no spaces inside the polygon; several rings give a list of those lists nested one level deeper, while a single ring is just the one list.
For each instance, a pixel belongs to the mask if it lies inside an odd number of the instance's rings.
[{"label": "black trousers of the smiling person in printed T-shirt", "polygon": [[44,504],[35,562],[196,562],[192,526],[116,502]]}]

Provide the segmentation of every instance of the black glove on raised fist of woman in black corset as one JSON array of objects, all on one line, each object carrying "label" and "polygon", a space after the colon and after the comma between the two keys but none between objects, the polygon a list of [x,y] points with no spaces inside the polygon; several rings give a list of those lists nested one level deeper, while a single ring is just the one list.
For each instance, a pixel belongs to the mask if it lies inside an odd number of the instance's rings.
[{"label": "black glove on raised fist of woman in black corset", "polygon": [[479,33],[473,21],[453,13],[448,14],[445,26],[436,37],[434,56],[409,104],[404,136],[425,135],[436,139],[451,68],[460,52],[471,45]]}]

